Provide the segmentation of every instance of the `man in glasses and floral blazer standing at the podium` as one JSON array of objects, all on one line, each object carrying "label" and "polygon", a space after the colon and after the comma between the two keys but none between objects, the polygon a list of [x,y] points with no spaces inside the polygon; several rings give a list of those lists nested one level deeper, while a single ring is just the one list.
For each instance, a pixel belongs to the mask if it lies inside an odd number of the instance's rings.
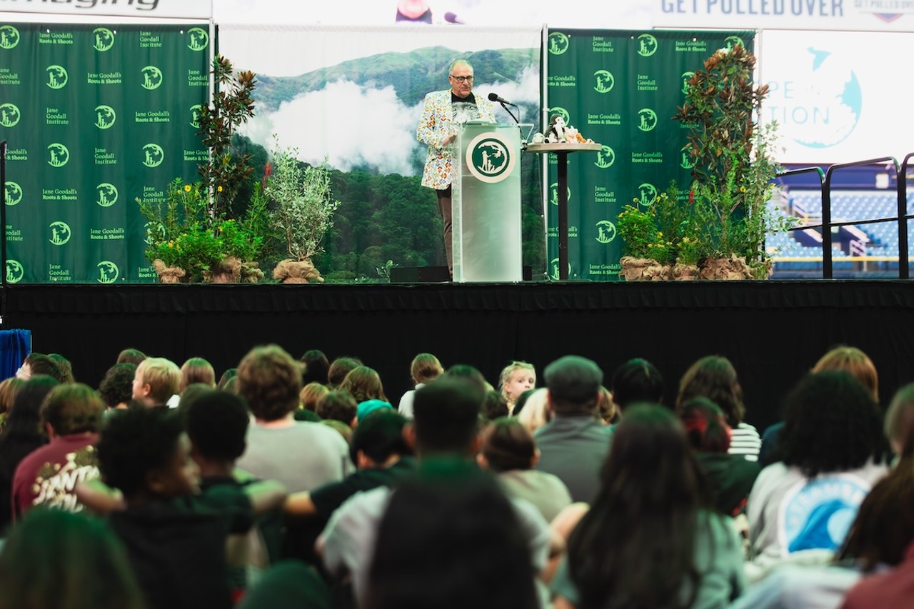
[{"label": "man in glasses and floral blazer standing at the podium", "polygon": [[495,122],[492,102],[473,94],[473,66],[466,59],[457,59],[448,69],[450,91],[432,91],[425,96],[425,105],[416,139],[429,146],[422,172],[422,186],[434,188],[438,208],[444,221],[444,251],[448,257],[448,272],[453,279],[451,237],[451,183],[454,179],[453,142],[457,130],[467,121]]}]

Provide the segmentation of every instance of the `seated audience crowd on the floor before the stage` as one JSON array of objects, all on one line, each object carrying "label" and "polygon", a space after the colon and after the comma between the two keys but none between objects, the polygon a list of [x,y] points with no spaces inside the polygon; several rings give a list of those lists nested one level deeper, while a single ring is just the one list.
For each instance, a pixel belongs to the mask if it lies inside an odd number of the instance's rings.
[{"label": "seated audience crowd on the floor before the stage", "polygon": [[596,362],[558,358],[537,389],[523,361],[493,388],[421,353],[397,410],[374,369],[316,349],[254,347],[225,391],[204,358],[118,360],[98,391],[59,355],[0,380],[0,609],[856,608],[914,592],[914,384],[882,417],[854,347],[798,379],[761,471],[720,356],[664,408],[641,358],[609,390]]}]

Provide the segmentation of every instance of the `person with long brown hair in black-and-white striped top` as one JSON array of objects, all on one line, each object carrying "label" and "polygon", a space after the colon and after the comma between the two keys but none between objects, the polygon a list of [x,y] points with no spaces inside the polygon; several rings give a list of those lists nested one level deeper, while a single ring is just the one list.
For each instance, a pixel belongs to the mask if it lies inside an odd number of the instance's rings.
[{"label": "person with long brown hair in black-and-white striped top", "polygon": [[746,406],[742,387],[728,358],[707,356],[685,370],[679,381],[676,409],[692,398],[707,398],[724,411],[731,433],[730,454],[741,454],[749,461],[759,460],[761,438],[755,427],[743,422]]}]

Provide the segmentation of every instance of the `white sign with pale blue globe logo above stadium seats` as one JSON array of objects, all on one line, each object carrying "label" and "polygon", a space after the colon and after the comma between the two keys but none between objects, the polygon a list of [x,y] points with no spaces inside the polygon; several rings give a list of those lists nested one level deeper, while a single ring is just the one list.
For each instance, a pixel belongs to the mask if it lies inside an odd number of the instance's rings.
[{"label": "white sign with pale blue globe logo above stadium seats", "polygon": [[779,124],[781,163],[847,163],[914,152],[904,119],[898,64],[914,34],[761,34],[760,81],[769,85],[762,120]]}]

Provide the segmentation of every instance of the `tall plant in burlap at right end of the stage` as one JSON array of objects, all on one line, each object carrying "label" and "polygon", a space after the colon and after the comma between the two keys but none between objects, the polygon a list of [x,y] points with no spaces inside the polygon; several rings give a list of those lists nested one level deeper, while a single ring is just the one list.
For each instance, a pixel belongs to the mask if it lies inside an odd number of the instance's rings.
[{"label": "tall plant in burlap at right end of the stage", "polygon": [[689,132],[689,238],[707,246],[700,261],[706,279],[769,277],[765,238],[792,226],[770,207],[771,180],[781,170],[772,156],[777,124],[758,123],[768,85],[753,84],[755,64],[741,45],[718,49],[696,70],[673,117]]}]

